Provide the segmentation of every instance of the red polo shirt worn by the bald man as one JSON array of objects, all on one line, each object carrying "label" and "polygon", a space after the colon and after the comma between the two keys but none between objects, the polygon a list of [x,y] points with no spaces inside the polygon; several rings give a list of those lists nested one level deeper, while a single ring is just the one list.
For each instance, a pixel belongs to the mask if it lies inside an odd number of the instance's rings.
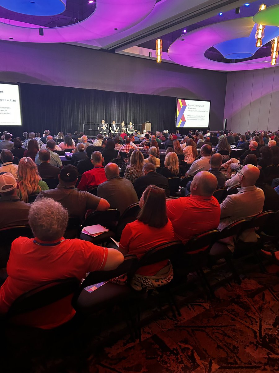
[{"label": "red polo shirt worn by the bald man", "polygon": [[177,239],[185,244],[199,233],[218,228],[221,209],[215,197],[191,195],[167,201],[167,216]]}]

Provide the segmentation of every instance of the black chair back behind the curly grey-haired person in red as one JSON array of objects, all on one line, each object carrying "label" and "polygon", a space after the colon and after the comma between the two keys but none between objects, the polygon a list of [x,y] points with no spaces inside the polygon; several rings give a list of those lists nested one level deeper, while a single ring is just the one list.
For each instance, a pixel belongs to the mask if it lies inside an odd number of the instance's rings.
[{"label": "black chair back behind the curly grey-haired person in red", "polygon": [[80,281],[76,278],[67,278],[42,283],[35,289],[32,289],[20,295],[11,305],[7,317],[24,314],[46,305],[57,302],[60,299],[74,294],[80,286]]}]

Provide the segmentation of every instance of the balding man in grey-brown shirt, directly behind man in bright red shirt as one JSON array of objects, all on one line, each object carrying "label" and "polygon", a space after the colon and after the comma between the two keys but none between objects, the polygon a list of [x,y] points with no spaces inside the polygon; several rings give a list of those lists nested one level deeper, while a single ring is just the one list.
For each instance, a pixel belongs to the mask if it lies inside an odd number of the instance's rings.
[{"label": "balding man in grey-brown shirt, directly behind man in bright red shirt", "polygon": [[110,207],[118,209],[120,214],[123,214],[127,207],[138,202],[137,193],[131,181],[119,176],[119,167],[116,163],[108,163],[105,166],[105,173],[107,181],[98,186],[97,196],[105,198]]}]

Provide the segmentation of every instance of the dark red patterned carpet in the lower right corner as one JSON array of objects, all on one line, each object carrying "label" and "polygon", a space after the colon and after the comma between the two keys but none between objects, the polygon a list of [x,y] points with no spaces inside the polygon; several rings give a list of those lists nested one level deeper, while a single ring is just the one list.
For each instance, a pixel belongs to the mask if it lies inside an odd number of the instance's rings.
[{"label": "dark red patterned carpet in the lower right corner", "polygon": [[92,356],[90,373],[278,372],[279,278],[251,273],[216,295],[144,327],[141,343]]}]

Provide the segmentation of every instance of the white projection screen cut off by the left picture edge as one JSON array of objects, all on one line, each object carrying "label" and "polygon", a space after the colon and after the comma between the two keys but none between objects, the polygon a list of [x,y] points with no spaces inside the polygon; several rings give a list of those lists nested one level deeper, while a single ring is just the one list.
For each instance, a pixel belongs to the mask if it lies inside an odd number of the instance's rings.
[{"label": "white projection screen cut off by the left picture edge", "polygon": [[0,126],[21,126],[18,84],[0,83]]}]

